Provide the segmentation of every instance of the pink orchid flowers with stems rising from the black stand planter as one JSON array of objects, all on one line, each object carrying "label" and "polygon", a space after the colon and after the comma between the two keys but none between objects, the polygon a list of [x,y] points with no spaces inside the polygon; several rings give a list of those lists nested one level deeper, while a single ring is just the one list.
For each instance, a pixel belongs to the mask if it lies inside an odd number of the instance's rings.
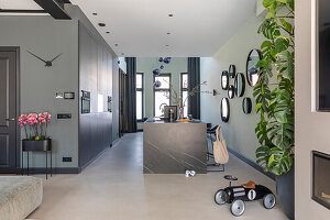
[{"label": "pink orchid flowers with stems rising from the black stand planter", "polygon": [[26,140],[47,140],[47,127],[52,116],[48,112],[21,114],[19,124],[25,131]]}]

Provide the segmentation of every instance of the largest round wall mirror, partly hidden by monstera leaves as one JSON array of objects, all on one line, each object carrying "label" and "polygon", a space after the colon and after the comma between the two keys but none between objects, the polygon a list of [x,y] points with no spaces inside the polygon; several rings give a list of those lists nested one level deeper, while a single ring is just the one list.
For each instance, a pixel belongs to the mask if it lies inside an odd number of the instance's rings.
[{"label": "largest round wall mirror, partly hidden by monstera leaves", "polygon": [[249,53],[246,61],[246,80],[248,84],[254,87],[260,79],[260,68],[256,68],[256,64],[262,58],[262,53],[260,50],[252,50]]}]

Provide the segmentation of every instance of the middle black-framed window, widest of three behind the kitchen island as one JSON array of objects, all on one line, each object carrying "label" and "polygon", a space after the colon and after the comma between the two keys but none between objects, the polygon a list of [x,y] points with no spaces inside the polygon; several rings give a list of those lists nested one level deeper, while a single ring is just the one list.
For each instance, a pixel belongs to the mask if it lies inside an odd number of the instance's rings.
[{"label": "middle black-framed window, widest of three behind the kitchen island", "polygon": [[162,74],[154,76],[154,82],[161,81],[161,87],[154,88],[154,114],[155,117],[162,117],[164,114],[164,106],[170,105],[170,74]]}]

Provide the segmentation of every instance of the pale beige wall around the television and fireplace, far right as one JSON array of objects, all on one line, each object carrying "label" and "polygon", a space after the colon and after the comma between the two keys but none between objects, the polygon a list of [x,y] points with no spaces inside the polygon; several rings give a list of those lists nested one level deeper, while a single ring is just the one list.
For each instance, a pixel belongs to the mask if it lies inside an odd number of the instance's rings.
[{"label": "pale beige wall around the television and fireplace, far right", "polygon": [[316,69],[311,48],[315,35],[315,0],[296,1],[296,219],[329,219],[330,211],[311,200],[311,151],[330,154],[329,112],[315,112]]}]

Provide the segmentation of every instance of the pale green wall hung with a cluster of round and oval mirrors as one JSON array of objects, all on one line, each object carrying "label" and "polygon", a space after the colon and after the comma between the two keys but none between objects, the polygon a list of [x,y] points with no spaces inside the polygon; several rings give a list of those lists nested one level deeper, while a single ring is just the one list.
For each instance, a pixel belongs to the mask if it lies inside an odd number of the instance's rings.
[{"label": "pale green wall hung with a cluster of round and oval mirrors", "polygon": [[[202,57],[200,59],[200,80],[208,81],[206,90],[217,89],[219,96],[201,95],[201,120],[221,124],[223,134],[229,147],[243,154],[250,160],[255,161],[255,150],[260,145],[254,133],[258,121],[255,113],[255,101],[253,98],[253,88],[245,80],[245,94],[243,97],[230,99],[230,120],[223,123],[220,118],[220,101],[227,96],[227,90],[221,89],[220,77],[222,70],[228,70],[230,64],[237,66],[237,73],[243,73],[245,76],[246,58],[249,52],[253,48],[260,48],[264,37],[257,34],[257,28],[264,20],[263,16],[254,16],[232,36],[212,57]],[[230,85],[234,79],[230,79]],[[244,114],[242,101],[244,97],[252,99],[251,114]]]}]

